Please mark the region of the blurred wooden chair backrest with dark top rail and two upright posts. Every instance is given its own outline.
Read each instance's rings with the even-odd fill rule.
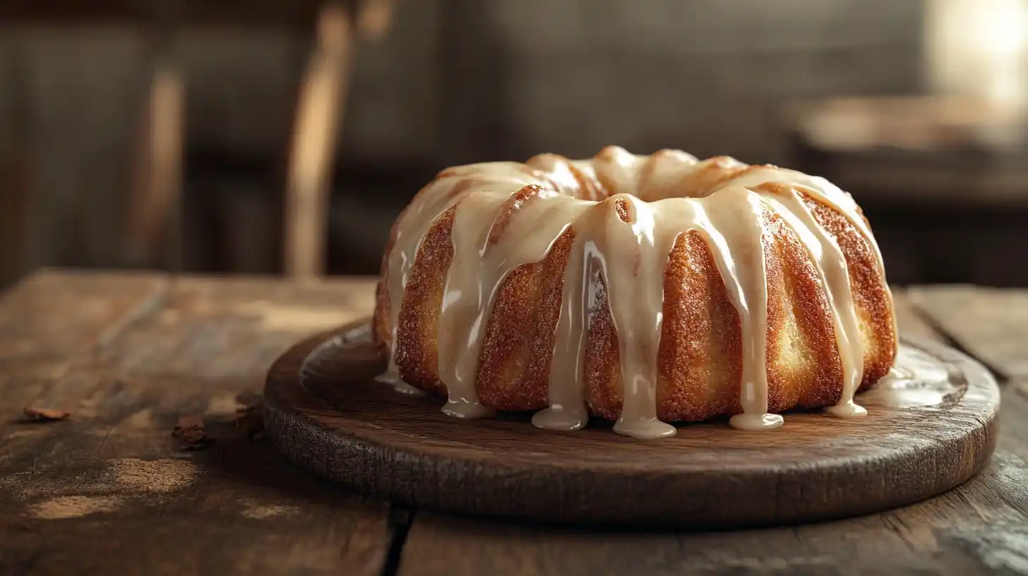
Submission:
[[[147,29],[151,70],[142,116],[136,122],[134,157],[128,158],[132,185],[122,260],[173,272],[181,266],[178,216],[188,106],[185,75],[172,41],[174,32],[192,26],[296,28],[315,23],[316,41],[298,91],[289,143],[283,262],[290,278],[324,275],[329,186],[356,39],[377,39],[389,31],[394,0],[283,0],[245,10],[237,4],[193,0],[98,0],[87,7],[74,2],[43,4],[3,2],[0,19],[7,24],[125,21]]]

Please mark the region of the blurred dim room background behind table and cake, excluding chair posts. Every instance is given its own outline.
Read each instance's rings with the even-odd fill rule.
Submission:
[[[282,273],[320,4],[215,4],[0,3],[0,284],[41,265]],[[375,273],[445,166],[618,144],[834,179],[893,282],[1028,285],[1009,258],[1028,248],[1024,29],[1020,0],[400,0],[353,46],[327,272]],[[182,76],[183,176],[171,247],[141,260],[126,207],[161,62]]]

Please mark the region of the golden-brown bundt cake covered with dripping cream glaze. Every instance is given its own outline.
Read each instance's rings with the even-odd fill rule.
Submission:
[[[596,417],[636,438],[722,416],[757,430],[794,408],[866,413],[853,396],[897,348],[848,193],[615,146],[441,172],[393,226],[373,336],[379,380],[446,396],[448,415],[537,410],[557,430]]]

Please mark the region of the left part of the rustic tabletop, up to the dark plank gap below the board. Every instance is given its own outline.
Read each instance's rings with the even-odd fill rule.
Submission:
[[[377,575],[389,505],[250,441],[236,396],[369,284],[44,273],[0,300],[0,574]],[[25,423],[26,405],[67,409]],[[195,415],[213,443],[183,451]]]

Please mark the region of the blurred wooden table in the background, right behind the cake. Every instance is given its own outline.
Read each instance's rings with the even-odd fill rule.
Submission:
[[[1023,110],[961,98],[849,98],[785,108],[796,168],[850,191],[889,280],[1028,286]]]

